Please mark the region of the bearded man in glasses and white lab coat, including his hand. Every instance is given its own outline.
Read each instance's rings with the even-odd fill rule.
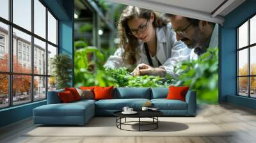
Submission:
[[[165,16],[171,20],[172,30],[176,33],[177,41],[183,41],[189,49],[192,49],[189,59],[196,60],[206,52],[207,48],[218,47],[218,24],[179,15],[166,14]],[[175,77],[173,65],[182,60],[175,61],[170,58],[168,61],[165,66],[159,68],[164,68],[166,73]],[[147,64],[139,64],[134,71],[136,71],[136,75],[162,75],[157,73],[156,68]]]

